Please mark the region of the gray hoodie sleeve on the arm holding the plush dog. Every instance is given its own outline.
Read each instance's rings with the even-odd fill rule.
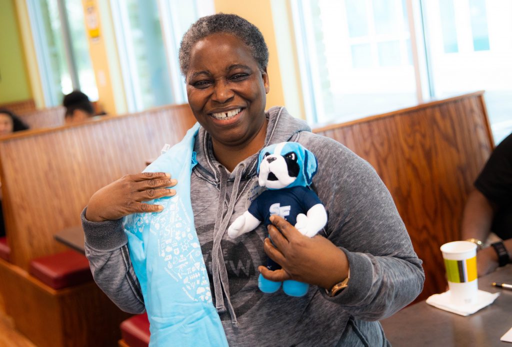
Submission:
[[[327,237],[347,254],[350,268],[344,291],[332,298],[320,291],[356,318],[388,317],[421,292],[422,262],[370,164],[334,140],[311,137],[304,145],[318,160],[313,183],[328,211]]]

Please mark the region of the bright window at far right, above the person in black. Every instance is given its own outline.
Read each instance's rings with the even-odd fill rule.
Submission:
[[[446,11],[449,3],[453,9]],[[512,132],[512,2],[436,0],[423,8],[433,97],[485,90],[494,139],[501,142]]]

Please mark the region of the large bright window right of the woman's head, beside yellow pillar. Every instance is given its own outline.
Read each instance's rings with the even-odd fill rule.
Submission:
[[[313,123],[348,121],[416,103],[406,8],[401,0],[298,2],[313,88]],[[306,15],[307,13],[307,15]],[[308,83],[307,83],[308,84]]]

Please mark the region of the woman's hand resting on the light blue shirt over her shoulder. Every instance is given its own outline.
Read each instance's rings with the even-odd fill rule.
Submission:
[[[142,202],[174,196],[176,190],[167,188],[176,183],[165,172],[126,175],[93,194],[87,205],[86,219],[91,222],[114,221],[132,213],[160,212],[163,206]]]

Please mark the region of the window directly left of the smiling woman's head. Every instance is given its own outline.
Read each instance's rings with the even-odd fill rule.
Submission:
[[[212,1],[111,0],[130,112],[186,102],[179,70],[181,37]]]

